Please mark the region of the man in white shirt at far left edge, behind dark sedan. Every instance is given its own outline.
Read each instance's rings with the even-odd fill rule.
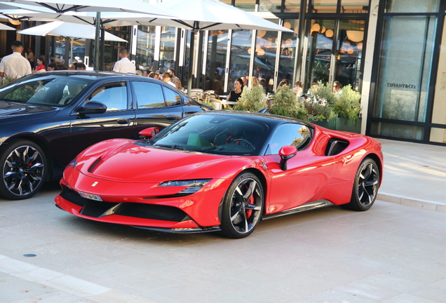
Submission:
[[[0,77],[10,76],[21,78],[31,74],[31,65],[29,61],[22,56],[23,44],[20,41],[14,41],[11,46],[13,53],[5,56],[0,62]]]

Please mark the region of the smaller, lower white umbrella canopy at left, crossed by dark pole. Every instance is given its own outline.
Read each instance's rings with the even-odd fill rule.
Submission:
[[[36,27],[30,27],[29,29],[23,29],[19,31],[19,34],[29,34],[34,36],[68,36],[83,39],[95,39],[95,27],[92,25],[81,25],[76,23],[68,23],[62,21],[55,21],[46,23],[44,25],[38,25]],[[119,36],[114,36],[109,32],[105,32],[105,41],[119,41],[127,42]]]

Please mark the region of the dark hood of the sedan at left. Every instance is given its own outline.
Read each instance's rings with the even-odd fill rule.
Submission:
[[[0,101],[0,123],[48,118],[53,116],[56,112],[58,112],[57,107]]]

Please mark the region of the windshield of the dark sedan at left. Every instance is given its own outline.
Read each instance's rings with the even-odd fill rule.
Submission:
[[[73,76],[44,76],[1,88],[0,100],[64,107],[91,82]]]

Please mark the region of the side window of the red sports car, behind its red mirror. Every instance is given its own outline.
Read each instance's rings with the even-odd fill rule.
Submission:
[[[266,154],[278,154],[285,145],[295,146],[298,150],[302,150],[310,141],[311,131],[308,127],[297,123],[285,123],[278,126],[274,132]]]

